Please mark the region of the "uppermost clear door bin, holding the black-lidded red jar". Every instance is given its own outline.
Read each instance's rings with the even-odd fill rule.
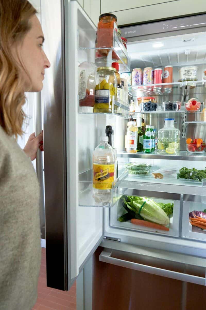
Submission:
[[[96,33],[99,33],[99,37],[105,38],[113,35],[113,44],[111,47],[107,46],[95,46],[95,41],[97,38]],[[111,32],[113,31],[113,33]],[[127,49],[124,44],[119,41],[115,30],[111,29],[78,29],[78,49],[79,50],[101,50],[105,61],[107,62],[107,67],[111,67],[112,62],[119,62],[121,64],[120,71],[130,71],[130,58],[128,56]],[[105,51],[105,53],[103,52]],[[101,53],[100,53],[101,57]],[[103,58],[101,57],[101,58]],[[97,61],[95,61],[97,62]]]

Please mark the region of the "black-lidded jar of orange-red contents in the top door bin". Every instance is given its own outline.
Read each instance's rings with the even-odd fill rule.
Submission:
[[[118,31],[117,18],[114,14],[106,13],[99,16],[99,23],[97,26],[97,47],[113,47],[114,30]],[[109,50],[99,49],[99,54],[107,56]]]

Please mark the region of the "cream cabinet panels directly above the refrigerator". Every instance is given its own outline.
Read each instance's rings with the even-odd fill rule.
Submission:
[[[94,1],[99,2],[99,1]],[[145,21],[168,19],[183,15],[193,15],[206,11],[203,0],[104,0],[101,1],[101,14],[111,12],[117,16],[117,24],[125,25]]]

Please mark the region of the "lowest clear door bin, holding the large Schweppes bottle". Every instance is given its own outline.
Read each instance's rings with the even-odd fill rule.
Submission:
[[[112,183],[112,188],[98,193],[93,185],[93,170],[89,169],[79,174],[78,204],[79,206],[111,208],[119,201],[128,188],[127,170],[119,170],[119,177]]]

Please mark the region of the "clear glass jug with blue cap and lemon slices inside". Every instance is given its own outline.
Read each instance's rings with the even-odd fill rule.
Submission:
[[[158,153],[179,152],[180,131],[174,127],[174,118],[165,118],[165,126],[158,131]]]

